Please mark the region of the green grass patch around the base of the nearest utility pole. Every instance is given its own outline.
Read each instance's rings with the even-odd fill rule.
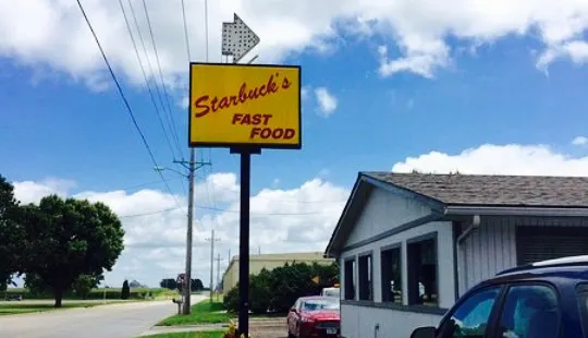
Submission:
[[[161,321],[158,325],[174,326],[189,324],[219,324],[229,323],[229,319],[234,317],[234,315],[223,312],[222,303],[210,303],[209,300],[204,300],[199,303],[192,305],[192,313],[189,315],[173,315]]]

